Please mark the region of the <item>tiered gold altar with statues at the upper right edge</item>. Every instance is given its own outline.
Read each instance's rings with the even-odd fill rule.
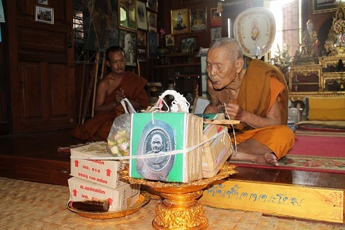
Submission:
[[[310,59],[300,50],[294,57],[293,65],[289,69],[289,99],[302,101],[305,97],[343,97],[345,95],[345,8],[340,1],[332,20],[332,26],[325,40],[327,56],[320,56],[316,50],[312,52],[317,59]],[[308,21],[309,22],[309,21]],[[314,27],[312,27],[314,28]],[[305,34],[308,34],[305,31]],[[307,42],[300,46],[315,49],[318,43],[317,33],[306,36]],[[318,41],[317,39],[314,40]],[[308,49],[308,50],[309,50]],[[312,61],[311,61],[312,60]]]

